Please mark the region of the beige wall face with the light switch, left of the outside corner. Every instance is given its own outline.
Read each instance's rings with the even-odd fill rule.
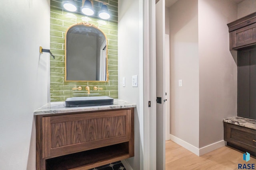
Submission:
[[[199,58],[198,0],[179,0],[170,7],[170,133],[198,148]],[[178,80],[183,86],[178,86]]]

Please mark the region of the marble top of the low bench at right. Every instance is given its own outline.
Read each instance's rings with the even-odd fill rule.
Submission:
[[[236,116],[236,117],[230,117],[230,118],[223,119],[223,121],[226,123],[231,123],[234,125],[248,127],[250,129],[256,130],[256,120],[254,120],[254,119],[247,119],[244,117]]]

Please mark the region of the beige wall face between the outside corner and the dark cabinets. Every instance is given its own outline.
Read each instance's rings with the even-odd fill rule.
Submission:
[[[226,25],[236,18],[230,0],[198,0],[200,148],[223,141],[222,119],[237,114],[237,65]]]

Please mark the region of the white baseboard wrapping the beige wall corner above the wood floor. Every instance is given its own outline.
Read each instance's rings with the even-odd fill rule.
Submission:
[[[174,141],[175,143],[177,143],[178,145],[188,149],[190,152],[193,152],[194,154],[196,154],[198,156],[201,156],[203,154],[211,152],[212,150],[215,150],[215,149],[218,149],[218,148],[221,148],[221,147],[225,146],[225,141],[222,140],[222,141],[212,143],[210,145],[207,145],[207,146],[202,147],[202,148],[199,149],[199,148],[195,147],[194,145],[191,145],[190,143],[187,143],[186,141],[183,141],[182,139],[180,139],[180,138],[178,138],[174,135],[171,135],[171,134],[170,134],[170,139],[172,141]]]

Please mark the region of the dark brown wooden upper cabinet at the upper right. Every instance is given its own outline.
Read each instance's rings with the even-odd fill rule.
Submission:
[[[230,22],[228,25],[230,50],[256,46],[256,12]]]

